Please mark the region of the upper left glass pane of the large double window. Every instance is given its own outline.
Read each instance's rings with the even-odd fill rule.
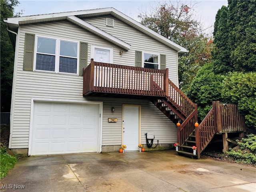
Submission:
[[[56,40],[38,37],[37,52],[46,54],[55,54]]]

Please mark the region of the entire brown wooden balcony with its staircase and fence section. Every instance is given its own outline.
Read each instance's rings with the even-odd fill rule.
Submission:
[[[168,68],[156,70],[94,62],[83,73],[83,96],[149,99],[177,128],[178,154],[200,158],[216,133],[245,131],[237,106],[213,102],[213,108],[195,128],[197,105],[168,78]],[[223,135],[223,138],[226,136]],[[196,156],[192,146],[197,147]],[[226,144],[226,146],[228,146]]]

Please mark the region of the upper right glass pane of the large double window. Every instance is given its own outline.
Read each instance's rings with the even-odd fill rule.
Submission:
[[[77,43],[60,41],[60,55],[77,57]]]

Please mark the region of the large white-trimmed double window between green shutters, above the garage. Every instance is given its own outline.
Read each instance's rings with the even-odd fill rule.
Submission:
[[[37,37],[34,70],[78,74],[78,42]]]

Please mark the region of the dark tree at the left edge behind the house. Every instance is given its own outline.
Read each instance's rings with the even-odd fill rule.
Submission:
[[[1,112],[10,112],[12,95],[12,77],[14,65],[14,48],[10,42],[4,18],[14,16],[14,7],[18,5],[18,0],[1,0],[1,50],[0,50],[0,70],[1,70]],[[20,14],[20,13],[19,13]]]

